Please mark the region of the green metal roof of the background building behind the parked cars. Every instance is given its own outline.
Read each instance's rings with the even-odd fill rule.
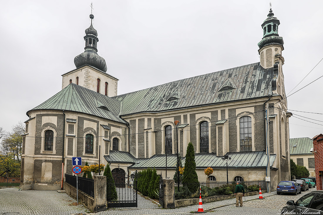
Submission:
[[[290,138],[289,139],[290,155],[312,154],[311,152],[309,152],[311,148],[313,148],[313,140],[311,138]]]

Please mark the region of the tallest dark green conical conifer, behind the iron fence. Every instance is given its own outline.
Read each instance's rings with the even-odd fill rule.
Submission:
[[[197,173],[195,171],[196,163],[195,163],[195,155],[194,155],[194,147],[190,142],[187,146],[186,156],[185,156],[185,168],[183,173],[183,184],[196,184],[196,186],[190,185],[187,186],[191,192],[196,192],[199,187],[199,179],[197,177]]]

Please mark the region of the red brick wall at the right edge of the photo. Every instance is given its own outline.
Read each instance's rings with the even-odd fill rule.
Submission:
[[[323,135],[320,134],[313,138],[315,178],[317,190],[323,190],[322,173],[323,173]]]

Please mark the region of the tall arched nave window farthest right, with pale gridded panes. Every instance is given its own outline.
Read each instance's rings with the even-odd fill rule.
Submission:
[[[240,151],[252,151],[251,117],[240,118]]]

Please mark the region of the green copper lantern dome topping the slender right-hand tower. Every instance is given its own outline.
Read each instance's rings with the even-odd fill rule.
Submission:
[[[266,18],[264,23],[261,25],[264,34],[262,40],[258,43],[258,47],[262,48],[271,44],[283,45],[283,37],[278,35],[278,26],[280,24],[279,20],[274,17],[274,13],[271,9],[267,16],[268,18]]]

